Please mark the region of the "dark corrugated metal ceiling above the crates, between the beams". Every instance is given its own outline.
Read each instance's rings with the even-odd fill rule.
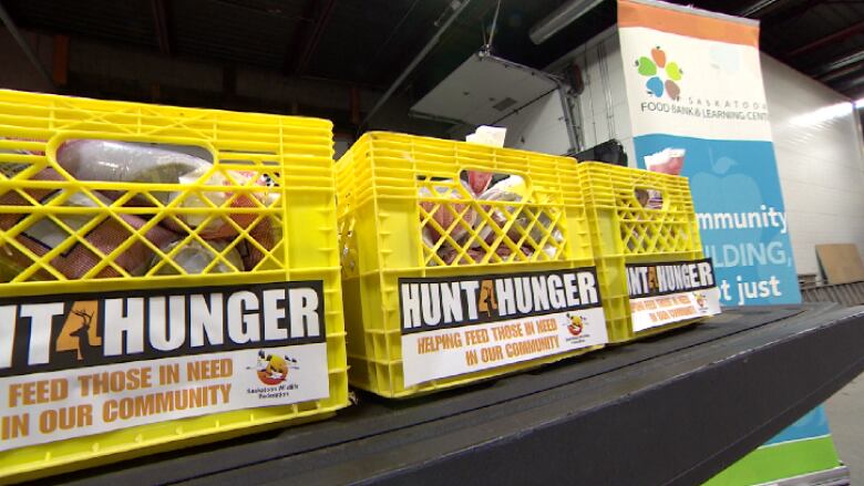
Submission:
[[[542,68],[615,22],[614,1],[607,0],[548,42],[534,45],[528,29],[563,1],[504,1],[495,53]],[[677,2],[733,14],[758,3]],[[411,77],[411,85],[430,89],[476,52],[483,43],[482,25],[488,25],[495,3],[473,0]],[[3,4],[22,28],[65,33],[73,41],[90,38],[155,51],[160,41],[154,12],[164,4],[171,55],[385,86],[432,37],[451,0],[4,0]],[[853,56],[856,62],[851,64],[832,64],[864,51],[864,2],[780,0],[768,2],[753,17],[762,22],[762,46],[768,53],[850,96],[864,93],[864,61]],[[820,43],[825,39],[830,42]]]

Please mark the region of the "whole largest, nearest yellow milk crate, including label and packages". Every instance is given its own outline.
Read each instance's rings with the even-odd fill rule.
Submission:
[[[331,132],[0,91],[0,480],[348,404]]]

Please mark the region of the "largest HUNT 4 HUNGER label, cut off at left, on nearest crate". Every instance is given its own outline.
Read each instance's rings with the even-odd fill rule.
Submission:
[[[0,301],[0,451],[328,395],[321,281]]]

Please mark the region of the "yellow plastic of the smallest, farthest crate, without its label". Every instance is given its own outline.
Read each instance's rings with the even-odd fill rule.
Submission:
[[[579,164],[592,244],[609,330],[609,342],[625,342],[699,322],[686,319],[634,332],[628,265],[701,260],[696,213],[686,177],[609,164]],[[641,192],[644,201],[639,200]],[[662,205],[645,204],[651,192]]]

